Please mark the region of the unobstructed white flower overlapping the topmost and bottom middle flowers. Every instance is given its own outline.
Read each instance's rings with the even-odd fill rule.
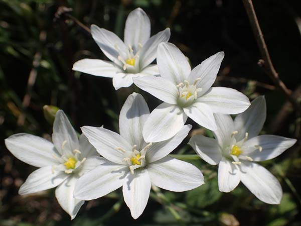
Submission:
[[[135,85],[164,101],[150,114],[143,129],[147,142],[171,138],[187,117],[209,130],[216,130],[213,113],[238,114],[250,105],[249,99],[235,89],[212,87],[223,52],[204,60],[191,70],[184,54],[171,43],[158,47],[157,64],[161,77],[133,78]]]

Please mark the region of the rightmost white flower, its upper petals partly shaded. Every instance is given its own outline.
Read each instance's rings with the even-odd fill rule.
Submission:
[[[277,157],[295,144],[295,139],[274,135],[257,136],[266,117],[264,96],[234,122],[230,116],[216,114],[215,139],[196,135],[189,144],[211,165],[219,164],[218,186],[223,192],[232,191],[241,181],[258,199],[269,204],[280,203],[282,189],[278,180],[257,161]]]

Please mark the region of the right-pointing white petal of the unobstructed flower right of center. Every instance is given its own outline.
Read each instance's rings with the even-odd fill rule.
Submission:
[[[209,105],[214,113],[227,115],[238,114],[250,106],[246,95],[226,87],[212,87],[197,101]]]

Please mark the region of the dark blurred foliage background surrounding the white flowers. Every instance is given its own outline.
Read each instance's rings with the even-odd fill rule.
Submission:
[[[289,89],[300,89],[301,2],[253,2],[280,78]],[[44,105],[63,109],[77,131],[84,125],[104,125],[117,132],[120,107],[128,94],[139,91],[134,86],[115,91],[111,79],[71,70],[79,59],[105,57],[74,20],[56,17],[60,6],[73,9],[68,15],[84,25],[96,24],[120,37],[128,13],[141,7],[150,17],[152,34],[170,27],[170,41],[193,66],[224,51],[215,85],[236,88],[251,99],[266,96],[263,134],[301,136],[300,116],[257,65],[260,54],[239,0],[0,0],[0,225],[301,225],[300,142],[262,163],[281,182],[280,205],[259,201],[242,184],[231,193],[220,193],[217,167],[194,157],[187,161],[202,170],[206,184],[181,193],[155,189],[137,220],[131,218],[120,190],[86,202],[73,221],[60,208],[53,190],[19,196],[19,187],[34,167],[14,158],[5,148],[5,138],[25,132],[50,139],[52,128],[43,116]],[[150,109],[160,103],[139,92]],[[212,136],[188,123],[196,129],[193,133]],[[174,154],[194,154],[185,145],[188,139]]]

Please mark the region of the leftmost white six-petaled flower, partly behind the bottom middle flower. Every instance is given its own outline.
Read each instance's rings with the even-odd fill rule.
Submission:
[[[19,194],[31,194],[57,187],[56,198],[73,219],[83,200],[73,197],[75,182],[85,172],[104,162],[82,134],[78,139],[62,110],[56,114],[53,144],[31,134],[15,134],[5,140],[9,151],[19,160],[39,167],[20,187]]]

